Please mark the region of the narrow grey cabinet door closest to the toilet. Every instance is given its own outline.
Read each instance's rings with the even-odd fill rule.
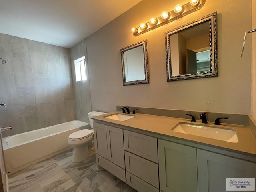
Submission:
[[[108,159],[106,125],[93,122],[95,152]]]

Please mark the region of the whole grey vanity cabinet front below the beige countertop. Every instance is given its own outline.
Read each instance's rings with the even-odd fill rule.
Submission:
[[[158,136],[94,122],[96,162],[138,192],[225,192],[226,178],[256,178],[254,160]]]

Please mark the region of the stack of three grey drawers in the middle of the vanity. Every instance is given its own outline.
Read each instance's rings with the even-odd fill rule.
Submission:
[[[127,184],[139,192],[159,192],[157,138],[124,130]]]

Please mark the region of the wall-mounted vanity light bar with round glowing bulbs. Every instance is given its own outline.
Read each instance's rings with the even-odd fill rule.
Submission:
[[[188,15],[198,9],[200,9],[205,4],[205,0],[190,0],[190,2],[175,6],[174,10],[167,12],[162,12],[162,15],[158,18],[151,18],[147,23],[141,23],[139,27],[132,28],[134,36],[138,36],[142,33],[148,32],[152,29],[158,28],[169,22],[172,22],[178,18]]]

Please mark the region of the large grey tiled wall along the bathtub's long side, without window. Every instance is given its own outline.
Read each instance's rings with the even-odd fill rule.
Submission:
[[[76,119],[68,48],[0,34],[0,58],[2,136]]]

